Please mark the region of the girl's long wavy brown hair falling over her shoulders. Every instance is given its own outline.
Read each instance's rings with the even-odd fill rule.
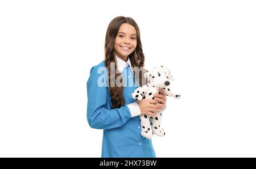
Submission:
[[[114,62],[115,63],[115,55],[114,55],[114,44],[115,44],[115,39],[117,37],[117,33],[119,31],[120,26],[123,23],[128,23],[131,24],[132,26],[135,27],[136,31],[137,31],[137,47],[135,48],[135,50],[133,51],[133,53],[131,53],[128,57],[130,58],[131,61],[131,66],[132,67],[142,67],[143,70],[143,66],[144,66],[144,54],[143,54],[143,50],[142,50],[142,44],[141,44],[141,36],[140,36],[140,32],[139,32],[139,27],[137,25],[137,23],[129,17],[124,17],[124,16],[118,16],[116,18],[114,18],[108,26],[108,29],[106,31],[106,37],[105,37],[105,58],[104,58],[104,62],[105,62],[105,66],[108,69],[108,78],[109,78],[109,91],[110,91],[110,96],[111,96],[111,102],[112,102],[112,108],[119,108],[122,105],[125,105],[125,100],[123,99],[123,86],[118,87],[117,85],[114,85],[114,87],[112,87],[110,85],[110,82],[114,81],[115,79],[120,75],[120,74],[115,74],[113,77],[110,77],[110,62]],[[117,69],[117,64],[115,63],[115,70]],[[142,86],[143,84],[143,76],[142,76],[142,72],[139,72],[139,82],[135,82],[137,84],[139,84],[139,86]],[[114,78],[114,80],[111,78]]]

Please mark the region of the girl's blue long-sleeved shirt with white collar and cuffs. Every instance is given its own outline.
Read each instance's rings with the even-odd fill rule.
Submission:
[[[102,67],[105,71],[102,71]],[[131,96],[137,88],[133,71],[129,65],[123,69],[126,70],[121,74],[124,82],[132,82],[133,85],[123,87],[125,105],[114,109],[111,109],[109,87],[106,86],[108,73],[104,61],[90,70],[90,77],[86,83],[88,123],[91,128],[104,129],[101,157],[155,157],[151,140],[141,136],[140,112],[134,116],[129,109],[129,105],[136,103]],[[130,78],[133,80],[127,80]],[[104,82],[105,86],[102,86],[102,83],[98,85],[99,82]]]

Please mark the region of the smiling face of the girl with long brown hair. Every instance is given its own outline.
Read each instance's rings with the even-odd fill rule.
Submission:
[[[123,60],[127,60],[127,56],[133,53],[136,46],[137,36],[134,26],[127,23],[121,24],[115,38],[114,54]]]

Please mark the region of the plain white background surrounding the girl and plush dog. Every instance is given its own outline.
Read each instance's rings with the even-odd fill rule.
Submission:
[[[157,157],[256,157],[255,1],[0,1],[0,157],[101,157],[86,81],[109,22],[141,29],[146,67],[165,65]]]

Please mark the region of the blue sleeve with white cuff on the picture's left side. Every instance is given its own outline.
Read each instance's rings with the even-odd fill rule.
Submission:
[[[92,67],[90,77],[86,83],[88,96],[86,116],[90,127],[95,129],[118,128],[135,115],[135,113],[132,115],[129,107],[133,107],[131,109],[133,109],[134,112],[137,111],[133,103],[133,105],[125,105],[120,108],[106,108],[108,91],[106,75],[106,70],[104,73],[98,73],[98,69]],[[104,85],[102,85],[102,79],[105,79]]]

